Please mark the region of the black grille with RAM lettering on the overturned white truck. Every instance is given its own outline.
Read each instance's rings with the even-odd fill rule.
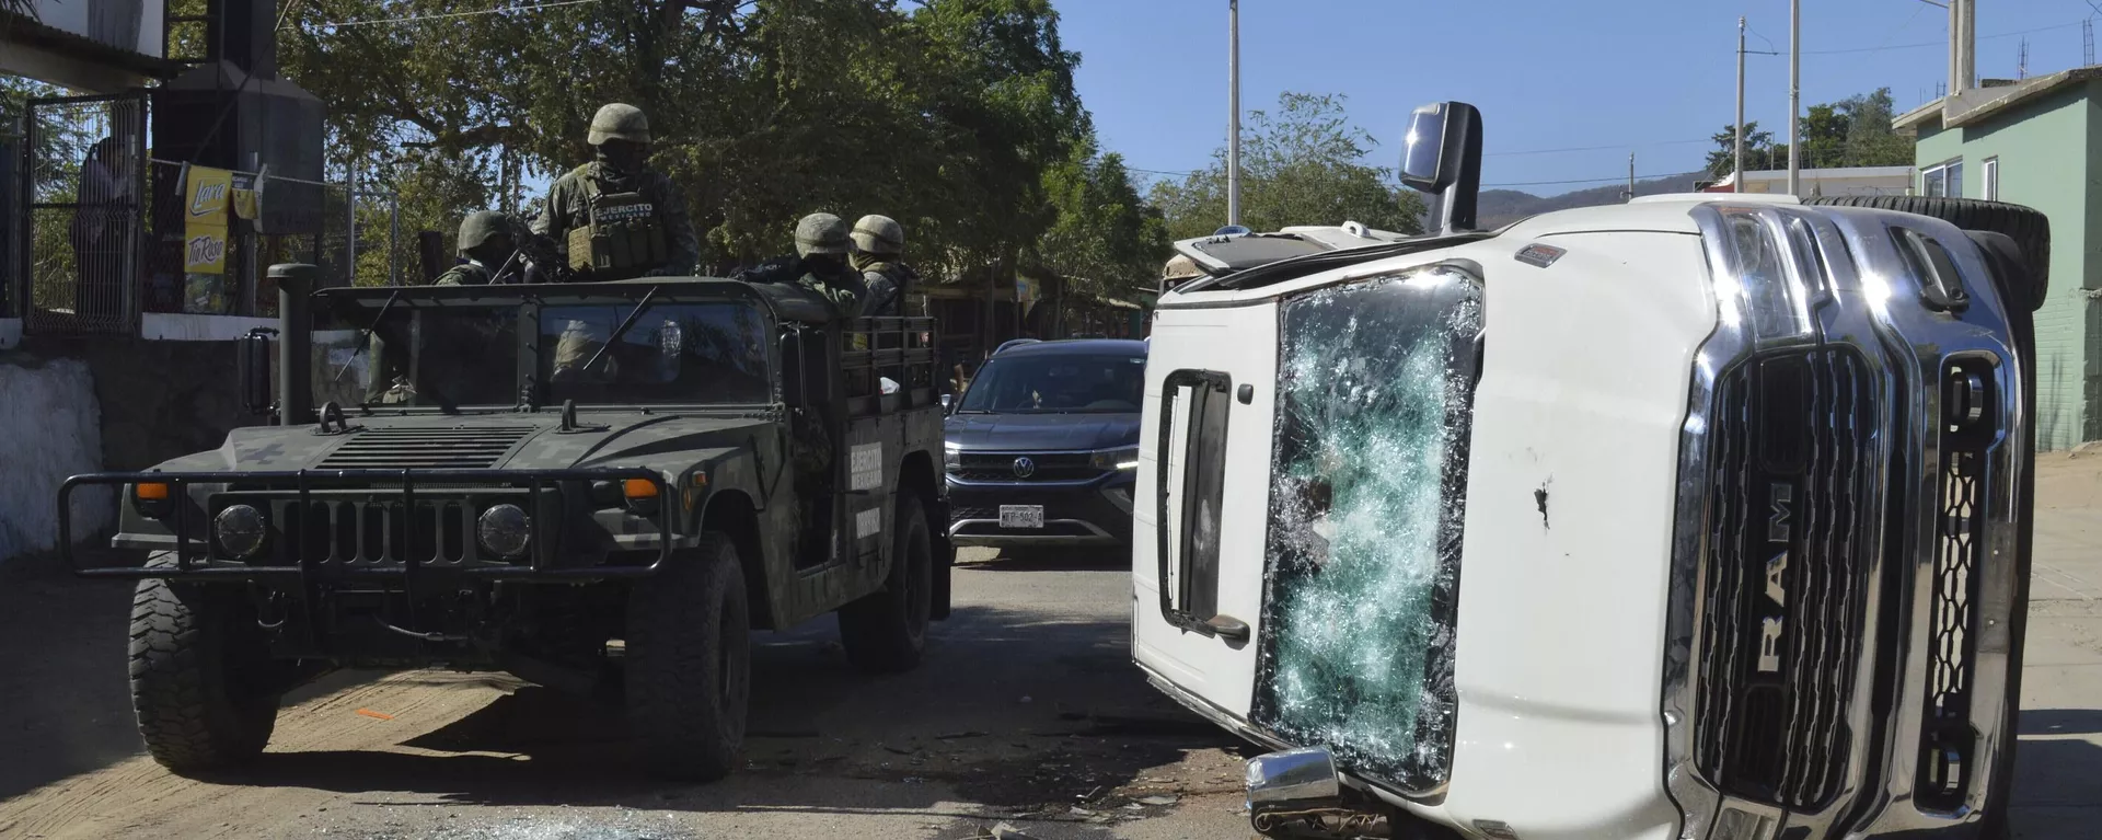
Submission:
[[[1694,737],[1728,794],[1814,811],[1841,783],[1875,526],[1871,381],[1856,352],[1816,349],[1715,385]]]

